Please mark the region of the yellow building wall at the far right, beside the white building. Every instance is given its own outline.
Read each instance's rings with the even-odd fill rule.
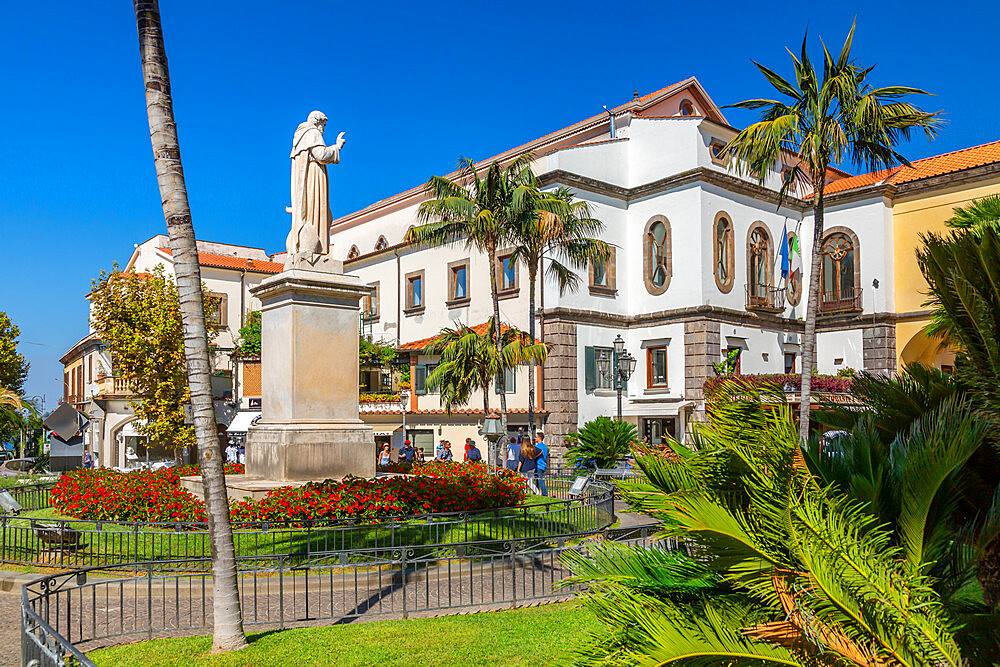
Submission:
[[[921,245],[920,235],[947,232],[944,223],[952,217],[954,208],[998,193],[1000,177],[935,189],[926,194],[898,197],[893,202],[892,247],[897,313],[905,317],[907,313],[928,310],[924,305],[927,301],[927,282],[920,273],[916,255]],[[923,334],[924,327],[929,323],[929,317],[920,316],[905,318],[896,324],[897,367],[912,361],[936,366],[953,363],[954,355],[950,351],[942,350],[938,342],[928,340]]]

